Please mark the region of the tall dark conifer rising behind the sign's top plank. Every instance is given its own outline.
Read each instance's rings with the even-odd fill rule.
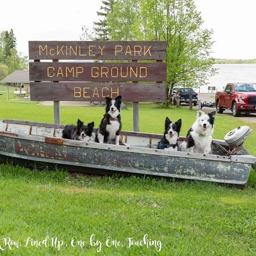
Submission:
[[[110,38],[110,27],[107,25],[106,16],[113,11],[114,0],[103,0],[102,4],[104,4],[104,6],[100,6],[101,11],[97,12],[97,14],[103,19],[93,22],[93,30],[95,33],[94,40],[96,41],[107,41]]]

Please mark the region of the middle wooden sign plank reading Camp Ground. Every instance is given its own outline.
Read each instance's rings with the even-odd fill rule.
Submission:
[[[166,63],[30,62],[30,81],[165,81]]]

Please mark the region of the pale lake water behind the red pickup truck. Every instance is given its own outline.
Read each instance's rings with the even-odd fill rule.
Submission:
[[[208,92],[208,86],[223,91],[228,83],[256,83],[256,64],[214,64],[218,74],[209,78],[209,84],[200,86],[201,93]],[[199,89],[196,89],[199,92]],[[211,91],[210,91],[211,92]]]

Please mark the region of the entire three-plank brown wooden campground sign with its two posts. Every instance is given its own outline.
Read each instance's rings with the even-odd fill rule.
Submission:
[[[31,100],[52,100],[55,124],[60,123],[59,101],[105,101],[122,95],[133,102],[133,130],[139,131],[139,102],[166,100],[166,41],[29,41],[29,59],[34,60],[29,63]]]

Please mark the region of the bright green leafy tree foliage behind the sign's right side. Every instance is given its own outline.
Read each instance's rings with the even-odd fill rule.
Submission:
[[[216,73],[210,57],[212,29],[193,0],[117,0],[107,15],[111,40],[167,42],[167,98],[174,85],[201,86]]]

